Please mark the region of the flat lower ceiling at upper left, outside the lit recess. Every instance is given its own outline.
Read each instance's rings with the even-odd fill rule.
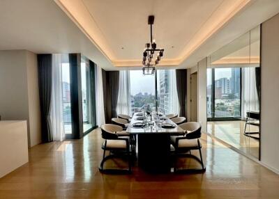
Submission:
[[[50,0],[0,1],[0,50],[82,53],[106,70],[112,63]]]

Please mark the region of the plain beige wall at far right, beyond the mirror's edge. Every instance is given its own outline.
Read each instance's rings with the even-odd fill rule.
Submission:
[[[279,173],[279,15],[262,24],[261,161]]]

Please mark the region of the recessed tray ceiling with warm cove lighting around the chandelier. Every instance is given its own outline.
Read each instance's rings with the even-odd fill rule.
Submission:
[[[162,65],[179,65],[250,0],[56,0],[114,66],[139,66],[153,37],[165,49]]]

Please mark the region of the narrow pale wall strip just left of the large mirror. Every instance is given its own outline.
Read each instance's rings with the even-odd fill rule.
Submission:
[[[206,133],[206,67],[207,58],[197,63],[197,120],[202,124],[202,132]]]

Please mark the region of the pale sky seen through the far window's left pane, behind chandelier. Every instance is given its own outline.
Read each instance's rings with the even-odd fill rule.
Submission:
[[[130,70],[130,93],[151,93],[155,95],[155,76],[143,75],[142,70]]]

